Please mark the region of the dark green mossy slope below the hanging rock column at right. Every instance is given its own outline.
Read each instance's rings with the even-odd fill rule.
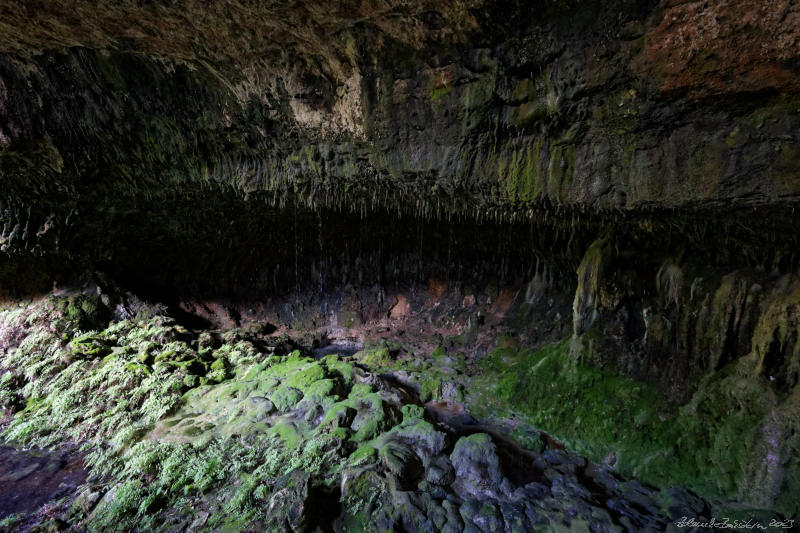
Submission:
[[[482,361],[467,398],[487,417],[515,414],[592,460],[704,496],[738,496],[764,471],[769,394],[741,361],[714,374],[692,401],[672,407],[648,385],[576,359],[569,342],[538,351],[498,348]],[[797,475],[793,472],[790,478]]]

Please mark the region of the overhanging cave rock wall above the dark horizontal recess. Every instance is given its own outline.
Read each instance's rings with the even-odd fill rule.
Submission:
[[[796,201],[791,2],[223,2],[196,27],[195,3],[135,6],[6,8],[14,193],[219,182],[469,218]]]

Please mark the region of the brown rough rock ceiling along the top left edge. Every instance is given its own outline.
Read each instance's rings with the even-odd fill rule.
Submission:
[[[479,0],[263,2],[3,2],[0,49],[20,57],[88,46],[199,60],[233,79],[276,67],[347,79],[356,68],[354,28],[369,26],[422,48],[463,40]],[[374,43],[377,48],[380,42]],[[268,74],[267,74],[268,75]]]

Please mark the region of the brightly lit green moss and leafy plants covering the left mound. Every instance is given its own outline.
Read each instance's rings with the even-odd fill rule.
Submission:
[[[9,369],[24,369],[27,380],[14,398],[25,409],[3,436],[86,446],[91,475],[111,489],[91,515],[75,509],[74,523],[92,531],[161,531],[165,514],[170,528],[192,529],[198,505],[211,513],[210,529],[256,527],[269,518],[266,504],[282,473],[300,469],[338,486],[346,468],[374,461],[370,443],[400,423],[396,399],[354,383],[363,370],[336,356],[264,354],[233,333],[218,350],[200,354],[194,343],[176,340],[192,333],[165,317],[116,322],[70,342],[75,327],[34,329],[3,354],[3,383],[16,383],[5,377]],[[81,354],[98,347],[110,353],[66,357],[76,346]],[[198,369],[226,379],[201,377]],[[428,426],[421,408],[403,411],[402,430],[436,445]]]

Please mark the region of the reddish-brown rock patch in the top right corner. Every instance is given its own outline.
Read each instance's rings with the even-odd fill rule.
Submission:
[[[708,97],[800,91],[800,4],[662,1],[661,22],[633,62],[662,92]]]

